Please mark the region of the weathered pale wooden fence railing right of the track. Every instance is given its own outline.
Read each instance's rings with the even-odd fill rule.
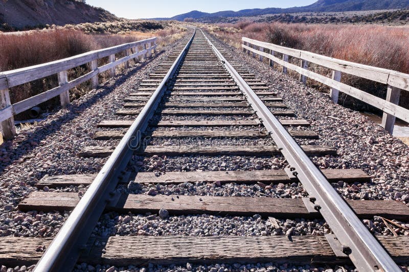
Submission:
[[[409,110],[398,106],[401,91],[409,91],[409,75],[406,73],[338,60],[245,37],[242,38],[242,41],[244,52],[249,55],[253,54],[254,58],[258,55],[260,61],[264,57],[268,58],[270,66],[274,63],[281,65],[283,73],[287,73],[287,69],[297,71],[300,74],[300,81],[304,84],[307,78],[310,78],[329,86],[331,88],[331,100],[334,103],[338,102],[339,92],[343,92],[382,110],[382,126],[391,134],[393,133],[396,117],[409,122]],[[281,54],[282,59],[276,57],[275,53]],[[289,56],[300,59],[300,66],[288,62]],[[332,78],[308,70],[310,62],[332,69]],[[386,100],[340,82],[342,73],[387,84]]]

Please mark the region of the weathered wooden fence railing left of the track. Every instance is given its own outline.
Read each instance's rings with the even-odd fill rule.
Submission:
[[[140,56],[148,58],[151,56],[152,50],[153,52],[156,50],[156,37],[91,51],[58,61],[0,72],[0,129],[3,137],[10,139],[15,136],[15,114],[31,109],[57,95],[60,96],[61,106],[64,107],[70,104],[70,89],[87,80],[90,80],[91,86],[96,88],[98,86],[98,75],[100,73],[109,71],[109,76],[113,77],[115,76],[116,66],[125,63],[125,67],[128,67],[131,59],[138,61]],[[125,57],[117,60],[116,54],[122,52]],[[98,67],[98,59],[104,57],[108,57],[109,62]],[[68,81],[67,70],[83,64],[88,64],[90,71],[79,78]],[[58,87],[44,91],[15,104],[10,103],[9,88],[52,75],[58,76]]]

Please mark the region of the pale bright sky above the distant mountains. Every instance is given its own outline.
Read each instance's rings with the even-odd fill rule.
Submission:
[[[192,10],[217,12],[255,8],[289,8],[307,6],[316,0],[86,0],[95,7],[104,8],[119,17],[128,19],[172,17]]]

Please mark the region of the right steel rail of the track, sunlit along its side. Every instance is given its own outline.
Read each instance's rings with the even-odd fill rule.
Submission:
[[[201,30],[200,30],[201,31]],[[326,180],[321,170],[304,153],[279,120],[260,100],[236,69],[222,56],[212,42],[201,31],[213,51],[224,63],[224,67],[243,91],[248,103],[262,119],[264,127],[280,147],[285,159],[295,170],[315,209],[319,210],[331,230],[359,271],[401,271],[387,251],[358,219],[348,204]]]

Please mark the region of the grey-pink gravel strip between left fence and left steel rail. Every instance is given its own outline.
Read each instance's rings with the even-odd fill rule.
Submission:
[[[17,204],[45,175],[96,174],[103,158],[78,158],[87,145],[115,146],[118,140],[95,141],[101,120],[116,119],[123,100],[131,89],[138,89],[179,43],[164,48],[156,58],[124,70],[96,90],[73,101],[67,108],[50,114],[46,120],[25,126],[14,140],[0,146],[0,236],[52,237],[67,213],[20,212]],[[48,189],[48,188],[44,188]],[[55,189],[49,189],[54,191]],[[64,191],[83,191],[68,188]]]

